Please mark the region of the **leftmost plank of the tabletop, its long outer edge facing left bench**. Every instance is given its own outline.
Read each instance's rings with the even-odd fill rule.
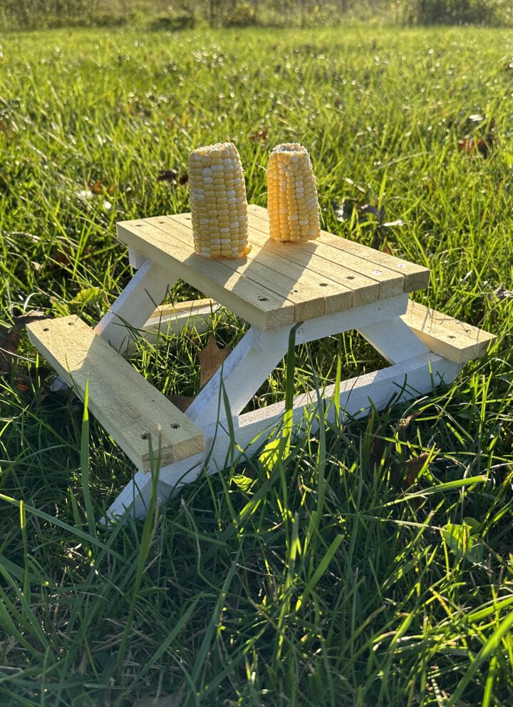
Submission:
[[[239,275],[221,260],[196,255],[189,246],[144,220],[118,223],[118,238],[259,329],[294,322],[294,302]]]

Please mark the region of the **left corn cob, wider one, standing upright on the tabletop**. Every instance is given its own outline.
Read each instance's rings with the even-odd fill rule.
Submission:
[[[195,251],[206,258],[247,253],[247,200],[237,148],[217,143],[193,150],[189,184]]]

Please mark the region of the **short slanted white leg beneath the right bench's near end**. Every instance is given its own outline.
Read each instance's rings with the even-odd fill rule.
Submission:
[[[358,326],[356,330],[389,363],[402,363],[427,354],[429,349],[400,317]]]

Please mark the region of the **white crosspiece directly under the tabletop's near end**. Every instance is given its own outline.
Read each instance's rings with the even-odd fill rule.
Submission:
[[[387,300],[372,302],[370,305],[353,307],[345,312],[336,312],[303,322],[296,330],[296,345],[340,334],[350,329],[356,329],[360,325],[388,322],[404,314],[407,307],[408,295],[399,295],[398,297],[389,297]],[[261,352],[269,351],[275,347],[286,348],[291,328],[292,325],[272,331],[261,331],[252,327],[250,330],[253,337],[252,347],[255,351]],[[414,355],[410,355],[409,358]]]

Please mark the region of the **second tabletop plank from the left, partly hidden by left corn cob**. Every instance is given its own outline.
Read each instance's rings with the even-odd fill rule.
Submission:
[[[190,214],[186,214],[186,216],[188,220],[155,216],[145,218],[145,223],[160,228],[163,233],[173,239],[173,242],[180,241],[194,250],[192,221]],[[316,291],[303,283],[296,283],[295,280],[288,277],[276,278],[276,273],[273,270],[269,270],[264,263],[259,263],[251,258],[224,258],[222,263],[233,272],[237,272],[238,275],[245,275],[249,280],[263,286],[275,295],[279,295],[289,302],[294,302],[294,321],[302,322],[305,319],[313,319],[323,315],[324,297],[321,288],[317,288]]]

